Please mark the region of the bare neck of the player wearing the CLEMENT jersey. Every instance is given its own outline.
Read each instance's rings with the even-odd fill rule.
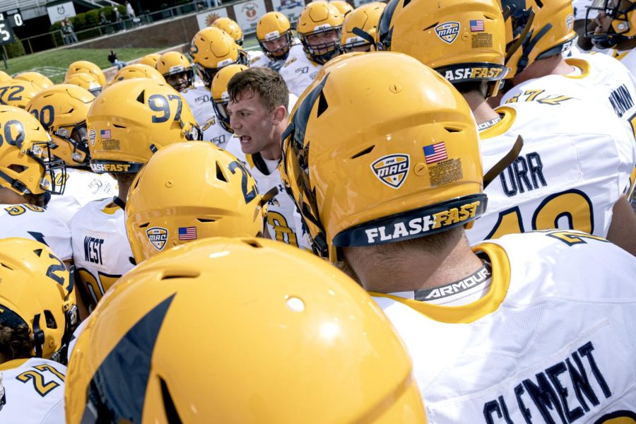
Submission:
[[[435,288],[470,276],[483,266],[466,236],[447,243],[435,253],[418,249],[382,251],[382,245],[348,247],[344,254],[365,290],[396,293]]]

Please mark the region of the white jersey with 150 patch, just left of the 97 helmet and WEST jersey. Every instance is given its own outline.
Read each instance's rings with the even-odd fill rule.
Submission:
[[[109,174],[95,174],[87,170],[66,168],[66,187],[61,196],[51,196],[47,209],[53,211],[66,225],[89,201],[117,194],[117,180]]]

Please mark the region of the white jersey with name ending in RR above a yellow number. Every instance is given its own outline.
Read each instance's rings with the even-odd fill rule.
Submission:
[[[502,121],[481,132],[484,172],[522,136],[519,157],[485,188],[488,207],[472,244],[505,234],[561,228],[606,237],[612,208],[630,187],[636,144],[612,112],[570,98],[497,108]],[[576,117],[572,120],[572,117]]]

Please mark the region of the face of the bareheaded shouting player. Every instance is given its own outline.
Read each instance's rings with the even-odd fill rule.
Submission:
[[[246,155],[269,150],[272,143],[276,143],[273,111],[266,110],[259,93],[247,91],[241,93],[236,102],[230,100],[228,114],[230,126]]]

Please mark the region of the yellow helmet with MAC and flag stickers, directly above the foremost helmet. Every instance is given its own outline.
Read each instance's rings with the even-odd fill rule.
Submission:
[[[262,203],[257,182],[230,153],[208,141],[167,146],[139,172],[126,201],[135,260],[196,239],[258,237]]]

